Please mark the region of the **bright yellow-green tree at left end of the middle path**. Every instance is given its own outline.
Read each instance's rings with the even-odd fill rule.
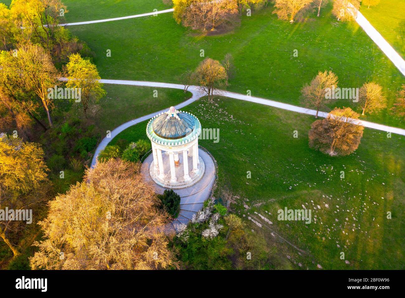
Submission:
[[[96,65],[89,60],[81,58],[80,54],[69,56],[69,63],[66,65],[68,71],[68,81],[66,87],[81,90],[81,103],[84,115],[87,118],[87,108],[91,102],[98,102],[105,94],[100,83]]]

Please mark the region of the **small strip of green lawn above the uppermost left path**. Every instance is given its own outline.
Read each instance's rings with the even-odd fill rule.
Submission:
[[[64,0],[68,7],[66,21],[92,21],[125,17],[140,13],[150,13],[153,9],[158,11],[171,8],[163,4],[162,0]]]

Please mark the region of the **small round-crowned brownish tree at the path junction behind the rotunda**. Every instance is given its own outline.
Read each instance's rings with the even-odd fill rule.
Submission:
[[[206,58],[195,71],[195,81],[201,91],[206,92],[208,99],[212,100],[217,88],[226,86],[228,75],[222,64],[211,58]]]

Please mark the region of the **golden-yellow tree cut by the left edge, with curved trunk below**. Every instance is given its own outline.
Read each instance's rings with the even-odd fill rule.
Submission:
[[[18,137],[0,134],[0,209],[34,209],[47,199],[47,166],[39,144],[24,142]],[[24,222],[11,219],[0,221],[0,238],[14,256],[19,250],[11,238],[21,231]]]

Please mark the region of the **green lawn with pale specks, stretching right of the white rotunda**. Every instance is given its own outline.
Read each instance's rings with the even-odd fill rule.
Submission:
[[[326,269],[403,269],[403,136],[387,138],[366,128],[356,152],[329,157],[308,147],[312,116],[226,98],[215,104],[200,99],[185,109],[198,116],[203,128],[220,129],[219,143],[200,140],[218,163],[216,197],[231,199],[235,212],[263,224],[260,229],[252,223],[255,229],[269,227],[305,252],[300,255],[279,243],[289,247],[282,251],[292,262],[304,269],[317,264]],[[146,139],[146,123],[123,131],[113,143]],[[277,221],[278,209],[302,205],[312,210],[312,223]],[[392,219],[386,218],[387,211]],[[340,259],[341,252],[349,264]]]

